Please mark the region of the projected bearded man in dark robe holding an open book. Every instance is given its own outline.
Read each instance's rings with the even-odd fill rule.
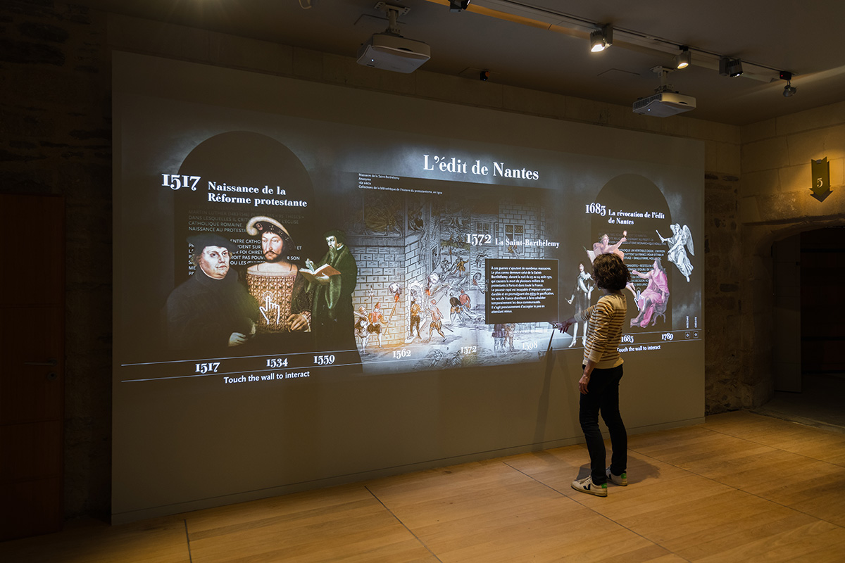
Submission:
[[[317,264],[306,260],[308,269],[303,270],[303,275],[309,276],[308,286],[313,291],[311,328],[314,344],[319,350],[350,350],[357,354],[352,292],[357,284],[358,266],[346,246],[346,233],[330,230],[324,238],[329,252]]]

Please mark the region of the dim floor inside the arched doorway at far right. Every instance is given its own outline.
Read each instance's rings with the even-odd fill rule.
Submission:
[[[776,391],[751,412],[845,434],[845,375],[804,374],[801,392]]]

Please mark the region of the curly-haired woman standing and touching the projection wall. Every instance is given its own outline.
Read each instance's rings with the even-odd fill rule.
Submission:
[[[602,290],[598,302],[567,319],[561,332],[575,322],[587,322],[584,343],[583,375],[578,382],[581,402],[578,418],[590,452],[590,475],[572,481],[572,488],[597,496],[608,495],[608,480],[628,485],[625,473],[628,463],[628,434],[619,414],[619,380],[622,379],[622,356],[619,340],[628,304],[622,290],[630,280],[628,268],[615,254],[601,254],[592,263],[592,278]],[[610,430],[613,455],[605,467],[606,452],[598,415]]]

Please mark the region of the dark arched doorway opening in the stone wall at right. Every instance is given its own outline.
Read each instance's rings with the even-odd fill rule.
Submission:
[[[845,227],[772,245],[775,396],[762,410],[845,431]]]

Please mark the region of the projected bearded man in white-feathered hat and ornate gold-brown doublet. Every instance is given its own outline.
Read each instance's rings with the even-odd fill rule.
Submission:
[[[258,236],[264,262],[247,268],[247,287],[259,304],[258,334],[311,330],[311,296],[299,268],[289,261],[294,252],[291,235],[270,217],[249,219],[247,233]]]

